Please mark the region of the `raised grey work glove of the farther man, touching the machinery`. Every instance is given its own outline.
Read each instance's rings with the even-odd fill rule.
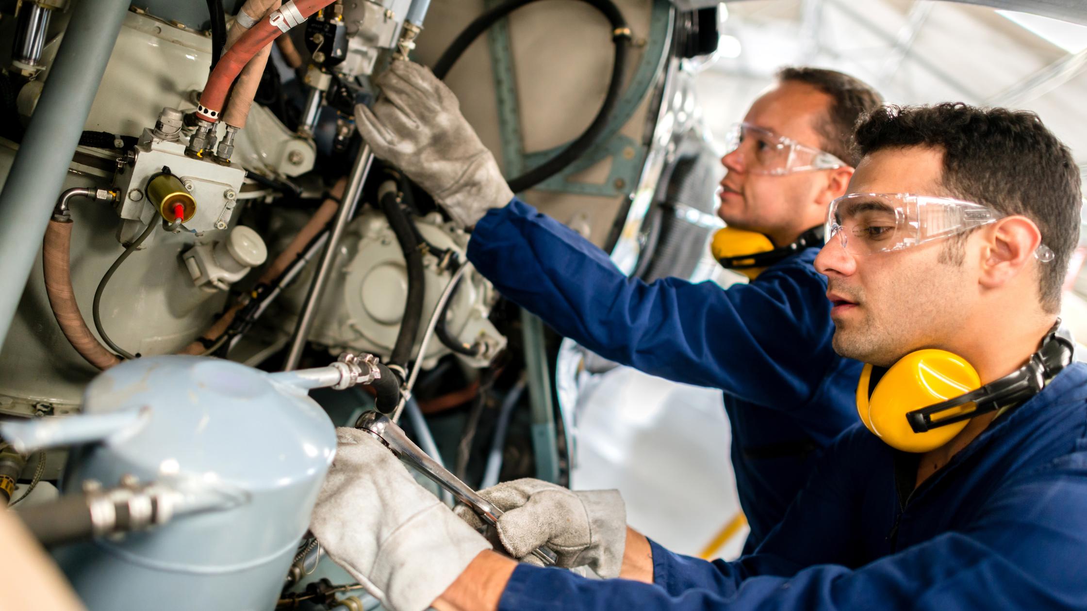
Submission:
[[[375,83],[384,97],[373,110],[354,109],[359,134],[375,155],[402,170],[462,227],[513,199],[457,96],[427,67],[393,60]]]

